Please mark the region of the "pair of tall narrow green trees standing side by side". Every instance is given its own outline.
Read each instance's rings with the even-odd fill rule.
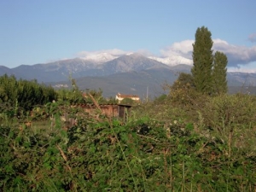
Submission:
[[[227,92],[227,64],[224,53],[216,51],[212,55],[212,33],[207,27],[197,28],[193,44],[194,66],[191,73],[195,89],[207,95],[219,95]]]

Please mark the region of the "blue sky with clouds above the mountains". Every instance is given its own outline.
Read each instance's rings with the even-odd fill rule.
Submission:
[[[192,65],[196,29],[206,26],[228,71],[256,73],[255,9],[255,0],[1,0],[0,66],[99,52],[177,55]]]

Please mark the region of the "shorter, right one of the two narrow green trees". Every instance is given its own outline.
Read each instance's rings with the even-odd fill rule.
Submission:
[[[213,61],[212,79],[214,92],[218,95],[226,93],[228,90],[227,85],[227,64],[228,58],[224,53],[216,51]]]

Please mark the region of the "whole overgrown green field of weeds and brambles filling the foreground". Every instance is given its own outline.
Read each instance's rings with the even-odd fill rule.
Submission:
[[[0,191],[256,190],[255,96],[161,96],[125,122],[63,102],[11,110]]]

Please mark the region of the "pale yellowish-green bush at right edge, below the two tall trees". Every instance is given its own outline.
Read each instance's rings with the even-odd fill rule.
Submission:
[[[204,124],[226,136],[230,131],[252,129],[256,123],[255,96],[222,95],[208,100],[201,111]]]

